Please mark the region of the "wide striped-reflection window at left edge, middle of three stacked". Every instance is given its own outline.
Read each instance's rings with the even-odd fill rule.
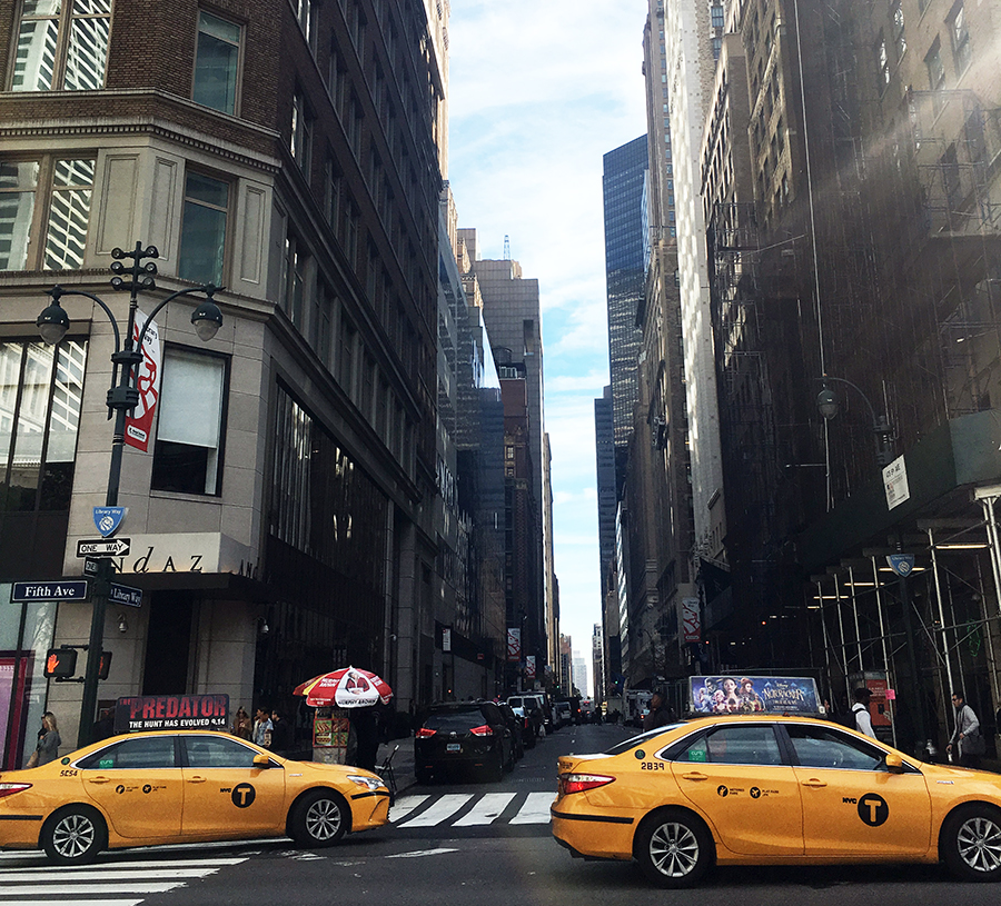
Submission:
[[[0,270],[81,268],[93,178],[88,158],[0,161]]]

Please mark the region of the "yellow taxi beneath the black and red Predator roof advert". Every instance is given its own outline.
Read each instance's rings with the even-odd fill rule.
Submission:
[[[79,865],[102,849],[287,835],[331,846],[389,820],[370,771],[291,761],[225,733],[117,736],[0,773],[0,849]]]

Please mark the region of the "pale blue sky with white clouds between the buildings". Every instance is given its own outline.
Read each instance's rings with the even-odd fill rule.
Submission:
[[[449,172],[480,258],[542,302],[561,631],[601,623],[594,400],[608,382],[602,156],[645,135],[646,0],[452,0]],[[588,684],[589,685],[589,684]]]

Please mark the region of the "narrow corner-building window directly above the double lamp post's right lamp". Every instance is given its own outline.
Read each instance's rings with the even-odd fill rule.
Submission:
[[[229,183],[189,171],[185,179],[177,276],[196,283],[222,285]]]

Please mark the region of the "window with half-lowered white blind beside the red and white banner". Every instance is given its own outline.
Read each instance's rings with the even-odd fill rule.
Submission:
[[[167,347],[153,448],[155,490],[218,495],[226,359]]]

